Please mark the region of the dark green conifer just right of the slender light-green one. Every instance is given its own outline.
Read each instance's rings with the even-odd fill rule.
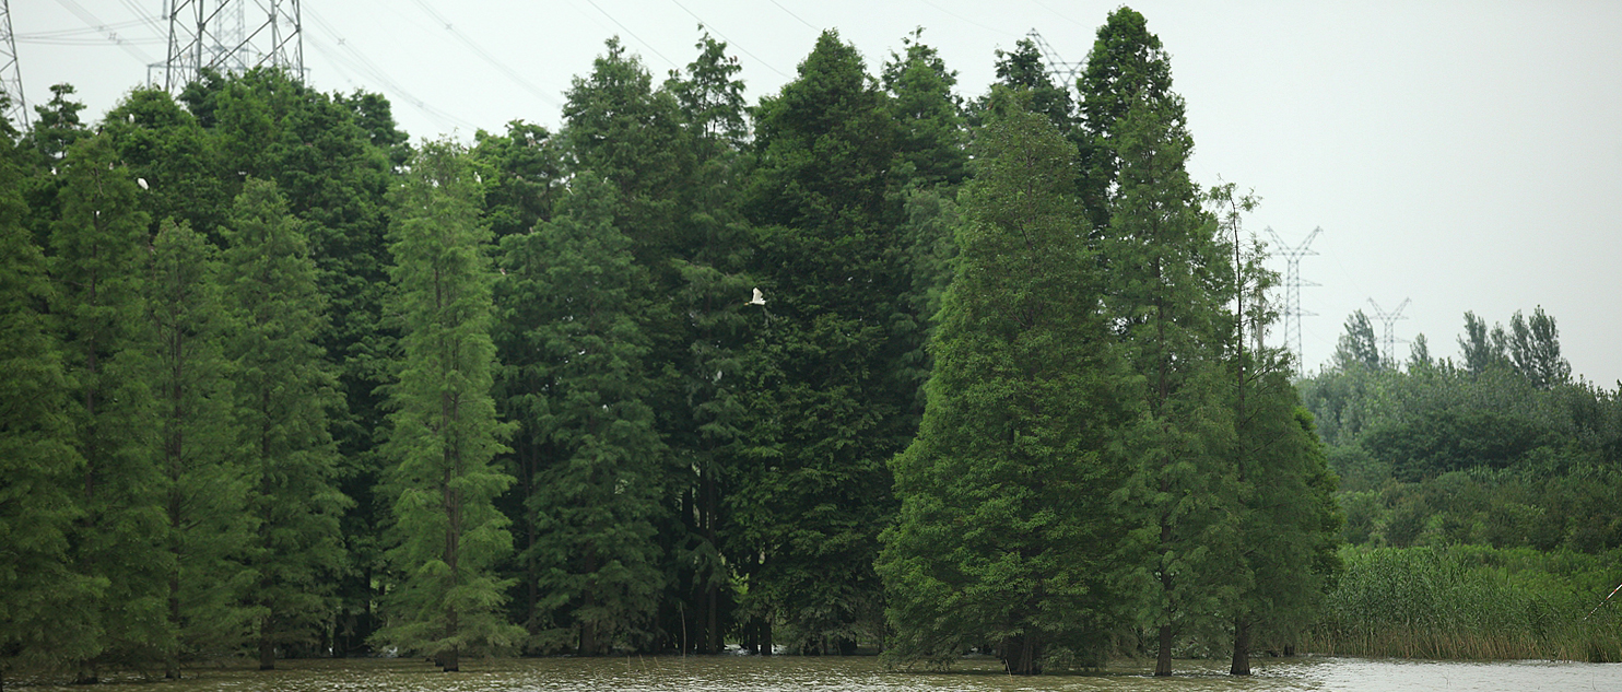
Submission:
[[[616,196],[582,172],[553,220],[503,238],[508,394],[537,452],[532,647],[597,656],[642,647],[663,587],[655,520],[663,444],[647,402],[646,272],[613,225]],[[521,360],[519,360],[521,358]]]

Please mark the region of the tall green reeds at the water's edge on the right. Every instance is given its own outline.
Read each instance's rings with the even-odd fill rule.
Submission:
[[[1619,554],[1453,548],[1343,551],[1307,650],[1400,658],[1622,661]],[[1619,596],[1622,598],[1622,596]]]

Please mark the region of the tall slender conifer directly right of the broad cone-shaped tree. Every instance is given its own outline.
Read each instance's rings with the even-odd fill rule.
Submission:
[[[1098,29],[1088,58],[1111,60],[1111,36],[1137,26],[1142,15],[1116,10]],[[1098,233],[1111,285],[1106,305],[1118,337],[1142,378],[1144,415],[1126,431],[1137,459],[1121,499],[1139,512],[1132,535],[1137,556],[1122,579],[1142,592],[1139,622],[1155,632],[1156,676],[1171,674],[1179,632],[1210,627],[1233,598],[1226,582],[1238,527],[1231,463],[1233,412],[1228,339],[1234,298],[1231,248],[1202,209],[1186,162],[1194,147],[1182,99],[1168,83],[1169,58],[1152,34],[1139,39],[1147,63],[1122,78],[1095,84],[1122,109],[1095,143],[1109,162],[1087,159],[1090,173],[1113,170],[1109,222]],[[1105,115],[1106,117],[1106,115]],[[1088,112],[1088,126],[1098,115]],[[1083,185],[1083,203],[1095,190]]]

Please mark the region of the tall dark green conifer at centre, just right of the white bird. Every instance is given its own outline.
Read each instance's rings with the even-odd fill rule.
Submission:
[[[806,653],[878,634],[873,561],[894,512],[886,460],[912,439],[916,381],[890,376],[910,337],[890,319],[907,287],[889,193],[899,123],[856,49],[817,37],[795,81],[754,109],[746,217],[766,293],[769,384],[749,408],[772,426],[728,499],[748,567],[746,608]]]

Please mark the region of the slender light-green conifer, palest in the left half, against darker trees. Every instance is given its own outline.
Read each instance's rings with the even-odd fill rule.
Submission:
[[[423,143],[391,191],[389,313],[401,319],[401,360],[388,387],[393,543],[397,583],[373,640],[457,671],[462,653],[511,647],[522,630],[503,617],[509,582],[493,569],[513,548],[495,498],[513,476],[491,465],[509,425],[490,395],[493,276],[478,224],[478,183],[467,152]]]

